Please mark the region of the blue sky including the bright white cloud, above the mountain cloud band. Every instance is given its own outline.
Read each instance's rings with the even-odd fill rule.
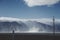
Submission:
[[[60,0],[0,0],[0,16],[60,18]]]

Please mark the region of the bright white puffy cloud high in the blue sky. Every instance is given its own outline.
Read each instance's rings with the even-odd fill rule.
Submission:
[[[29,7],[34,6],[50,6],[58,3],[60,0],[24,0]]]

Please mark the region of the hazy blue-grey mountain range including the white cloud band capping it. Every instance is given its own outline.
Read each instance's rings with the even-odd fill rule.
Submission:
[[[0,17],[0,33],[12,32],[35,32],[35,33],[49,33],[53,32],[52,19],[18,19],[11,17]],[[60,20],[55,21],[55,31],[60,32]]]

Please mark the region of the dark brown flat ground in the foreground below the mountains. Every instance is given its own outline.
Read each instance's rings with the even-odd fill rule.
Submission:
[[[0,40],[60,40],[60,34],[51,33],[0,33]]]

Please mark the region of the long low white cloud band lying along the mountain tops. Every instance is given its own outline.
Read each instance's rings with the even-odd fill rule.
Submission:
[[[52,18],[39,18],[39,19],[20,19],[20,18],[12,18],[12,17],[0,17],[0,22],[4,22],[4,21],[22,21],[22,22],[27,22],[27,21],[37,21],[37,22],[41,22],[41,23],[46,23],[46,24],[50,24],[53,20]],[[55,19],[55,22],[60,22],[60,19]]]

